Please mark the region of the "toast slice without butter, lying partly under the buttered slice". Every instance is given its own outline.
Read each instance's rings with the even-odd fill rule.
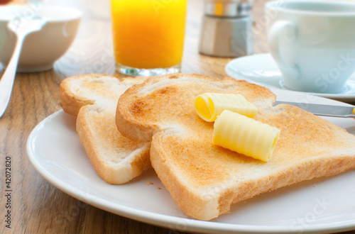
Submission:
[[[77,134],[97,174],[109,184],[124,184],[151,167],[150,143],[125,138],[115,124],[119,96],[145,78],[104,74],[68,77],[60,83],[60,105],[77,116]]]

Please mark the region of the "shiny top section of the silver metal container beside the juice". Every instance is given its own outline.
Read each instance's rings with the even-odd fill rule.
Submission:
[[[253,0],[205,0],[207,16],[241,17],[251,14]]]

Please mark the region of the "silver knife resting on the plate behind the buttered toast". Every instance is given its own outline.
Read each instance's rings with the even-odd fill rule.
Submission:
[[[275,106],[278,104],[288,104],[292,106],[297,106],[317,116],[355,118],[355,106],[333,106],[322,104],[305,104],[290,101],[275,101]]]

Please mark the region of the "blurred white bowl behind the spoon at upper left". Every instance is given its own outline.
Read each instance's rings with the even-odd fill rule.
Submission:
[[[58,6],[0,6],[0,62],[4,67],[16,43],[16,36],[7,28],[7,23],[16,16],[26,20],[34,15],[42,16],[47,23],[42,30],[31,33],[24,40],[18,72],[52,69],[54,62],[72,45],[82,18],[80,11]]]

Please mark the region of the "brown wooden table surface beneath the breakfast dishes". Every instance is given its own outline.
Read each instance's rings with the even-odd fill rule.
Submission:
[[[87,73],[115,74],[108,0],[42,2],[81,9],[84,17],[75,42],[53,69],[16,74],[9,107],[0,118],[0,232],[179,233],[84,204],[48,183],[29,162],[26,154],[28,135],[40,121],[61,109],[59,84],[62,79]],[[254,53],[268,52],[262,28],[264,3],[265,0],[254,1]],[[208,57],[198,52],[202,6],[202,0],[189,2],[182,72],[222,78],[226,76],[224,66],[231,59]],[[8,212],[5,196],[6,157],[11,157],[11,229],[6,228],[5,223]]]

